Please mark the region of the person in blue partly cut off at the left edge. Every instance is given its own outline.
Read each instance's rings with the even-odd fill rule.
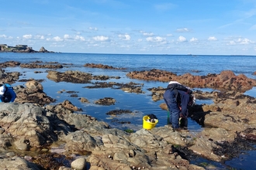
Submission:
[[[11,103],[16,99],[16,93],[9,83],[0,87],[0,102]]]

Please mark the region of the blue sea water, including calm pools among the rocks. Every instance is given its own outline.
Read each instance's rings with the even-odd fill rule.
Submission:
[[[98,121],[106,121],[110,127],[122,130],[138,131],[142,128],[142,117],[147,114],[155,114],[158,119],[156,127],[167,124],[167,112],[162,110],[159,105],[164,100],[153,101],[149,88],[167,87],[168,82],[146,81],[130,79],[126,73],[141,70],[167,70],[177,75],[191,73],[192,75],[206,76],[209,73],[219,74],[223,70],[231,70],[236,75],[244,74],[245,76],[256,79],[256,56],[214,56],[214,55],[139,55],[139,54],[102,54],[102,53],[0,53],[1,63],[6,61],[18,61],[20,63],[61,63],[64,68],[56,69],[59,72],[67,70],[78,70],[92,75],[108,75],[119,76],[120,79],[110,79],[106,82],[116,83],[141,83],[144,84],[142,90],[145,93],[127,93],[123,90],[111,88],[88,89],[92,83],[67,83],[54,82],[47,79],[47,70],[49,69],[27,69],[20,67],[5,68],[5,72],[20,72],[22,76],[19,80],[43,80],[43,91],[48,96],[56,99],[54,104],[70,100],[72,104],[81,108],[81,114],[88,114],[96,117]],[[125,70],[103,70],[98,68],[85,67],[85,63],[95,63],[109,65]],[[35,73],[35,71],[40,73]],[[97,80],[99,82],[99,80]],[[24,82],[17,81],[12,86],[23,85]],[[213,89],[202,88],[193,89],[211,92]],[[58,93],[64,91],[64,93]],[[71,97],[71,93],[65,91],[74,91],[78,97]],[[247,90],[244,94],[256,97],[256,87]],[[89,100],[88,104],[81,103],[79,97],[85,97]],[[116,99],[116,104],[110,106],[102,106],[94,104],[95,100],[104,97],[112,97]],[[196,104],[212,104],[212,100],[196,100]],[[120,114],[110,116],[106,113],[111,110],[131,110],[133,114]],[[129,121],[129,124],[119,124],[119,121]],[[189,131],[191,133],[199,133],[203,128],[195,121],[189,119]],[[242,151],[237,158],[229,160],[225,163],[211,162],[204,158],[194,160],[192,163],[200,164],[207,162],[216,169],[254,169],[256,167],[256,146],[255,151]]]

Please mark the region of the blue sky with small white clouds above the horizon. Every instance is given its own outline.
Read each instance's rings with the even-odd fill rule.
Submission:
[[[255,0],[0,0],[0,44],[62,53],[256,55]]]

